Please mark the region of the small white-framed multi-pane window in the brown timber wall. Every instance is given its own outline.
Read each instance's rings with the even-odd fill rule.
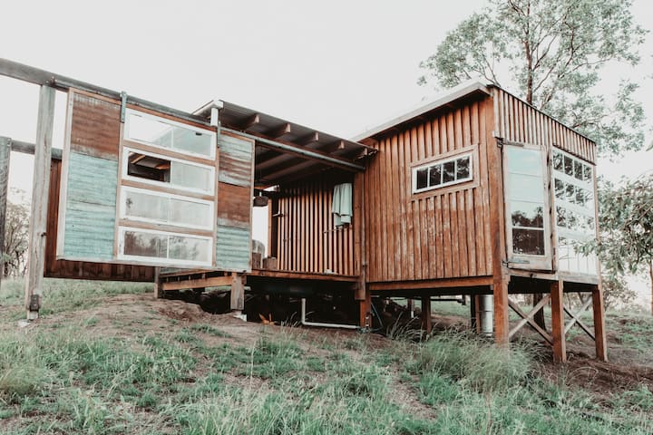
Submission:
[[[470,181],[472,174],[472,154],[438,160],[413,169],[413,193]]]

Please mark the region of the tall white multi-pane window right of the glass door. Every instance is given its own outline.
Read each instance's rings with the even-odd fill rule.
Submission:
[[[584,256],[578,249],[596,237],[593,167],[561,150],[553,150],[552,161],[558,267],[596,275],[596,256]]]

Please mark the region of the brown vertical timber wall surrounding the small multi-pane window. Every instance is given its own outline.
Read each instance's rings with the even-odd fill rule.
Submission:
[[[378,139],[365,172],[369,282],[492,275],[491,111],[489,98],[460,102]],[[412,168],[463,152],[473,156],[472,181],[413,193]]]

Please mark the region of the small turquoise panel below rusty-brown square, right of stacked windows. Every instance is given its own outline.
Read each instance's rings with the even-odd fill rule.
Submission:
[[[230,271],[250,271],[249,228],[228,227],[218,220],[216,267]]]

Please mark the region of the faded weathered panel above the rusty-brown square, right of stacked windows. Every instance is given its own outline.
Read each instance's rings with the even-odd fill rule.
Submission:
[[[252,142],[222,134],[219,137],[219,152],[219,181],[236,186],[250,186]]]

